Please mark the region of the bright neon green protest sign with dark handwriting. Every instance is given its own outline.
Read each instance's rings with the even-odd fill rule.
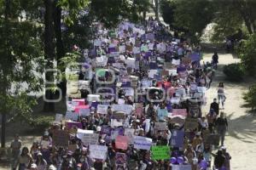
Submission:
[[[170,147],[166,145],[157,145],[151,147],[153,160],[168,160],[170,159]]]

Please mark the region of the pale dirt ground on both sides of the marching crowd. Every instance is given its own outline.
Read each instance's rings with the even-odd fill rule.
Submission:
[[[204,60],[210,61],[212,54],[204,54]],[[224,82],[226,102],[224,105],[224,113],[229,121],[229,131],[227,133],[224,145],[232,156],[232,170],[253,170],[256,167],[256,116],[248,113],[247,108],[243,105],[242,93],[247,90],[247,87],[252,84],[252,80],[245,80],[241,83],[225,81],[222,68],[224,65],[239,62],[231,54],[219,54],[219,66],[216,71],[216,77],[212,82],[212,87],[207,90],[207,105],[203,107],[204,113],[209,110],[209,105],[212,99],[217,97],[218,82]],[[20,123],[11,124],[7,129],[7,145],[10,144],[14,133],[20,133],[21,140],[26,146],[31,146],[32,141],[38,140],[38,135],[27,134],[20,130]],[[43,133],[43,132],[42,132]],[[0,167],[1,170],[9,168]]]

